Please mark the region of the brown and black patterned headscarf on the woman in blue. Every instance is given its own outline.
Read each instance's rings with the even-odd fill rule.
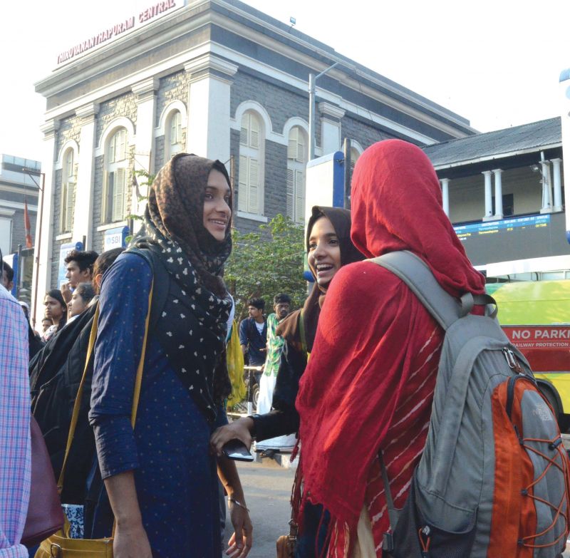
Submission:
[[[212,170],[222,172],[229,184],[219,161],[186,153],[172,157],[152,182],[144,226],[131,244],[155,252],[170,274],[167,300],[153,335],[210,421],[231,391],[224,348],[232,309],[222,279],[224,262],[232,252],[230,224],[221,242],[203,224]]]

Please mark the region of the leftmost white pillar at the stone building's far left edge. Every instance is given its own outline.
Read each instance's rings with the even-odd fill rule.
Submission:
[[[53,243],[53,190],[56,185],[56,144],[59,130],[58,120],[48,120],[40,130],[43,132],[43,153],[41,170],[43,192],[38,197],[38,218],[36,219],[36,249],[32,276],[31,315],[36,324],[43,318],[43,295],[51,286],[51,248]],[[43,204],[43,207],[42,207]],[[41,215],[40,212],[43,212]],[[41,225],[40,225],[41,224]],[[39,249],[38,249],[39,244]]]

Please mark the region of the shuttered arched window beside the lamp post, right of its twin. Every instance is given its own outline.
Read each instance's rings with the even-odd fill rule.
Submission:
[[[287,216],[298,223],[305,217],[307,152],[306,134],[300,126],[294,126],[287,148]]]

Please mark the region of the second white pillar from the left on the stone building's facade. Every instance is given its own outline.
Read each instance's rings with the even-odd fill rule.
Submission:
[[[76,184],[76,207],[73,219],[73,239],[86,237],[85,249],[93,247],[93,180],[95,176],[95,132],[97,103],[89,103],[76,110],[81,118],[78,170]]]

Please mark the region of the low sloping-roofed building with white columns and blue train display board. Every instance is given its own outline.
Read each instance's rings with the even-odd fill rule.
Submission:
[[[488,282],[570,279],[560,117],[424,151],[444,210]]]

